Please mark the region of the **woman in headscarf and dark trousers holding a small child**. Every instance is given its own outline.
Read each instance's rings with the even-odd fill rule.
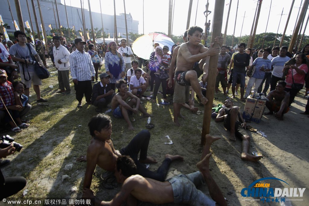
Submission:
[[[168,78],[167,70],[168,67],[164,67],[162,64],[162,55],[163,50],[160,46],[157,46],[155,48],[155,58],[154,58],[154,64],[155,64],[155,88],[154,88],[154,101],[157,99],[157,93],[160,87],[160,84],[162,83],[162,93],[163,93],[163,100],[167,102],[166,99],[166,79]]]

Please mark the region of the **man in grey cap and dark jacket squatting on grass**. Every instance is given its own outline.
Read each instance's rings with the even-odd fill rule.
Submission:
[[[95,109],[97,112],[102,112],[102,109],[107,107],[112,101],[112,94],[115,91],[112,90],[109,84],[110,77],[110,75],[104,72],[100,74],[101,81],[93,85],[91,104],[97,107],[97,109]]]

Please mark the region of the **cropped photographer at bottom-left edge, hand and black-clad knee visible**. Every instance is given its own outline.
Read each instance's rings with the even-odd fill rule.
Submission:
[[[0,140],[0,144],[2,141]],[[0,148],[0,158],[5,158],[15,152],[15,147],[13,143],[7,148]],[[0,170],[0,200],[16,194],[18,191],[22,190],[27,184],[27,181],[23,177],[8,177],[4,178]]]

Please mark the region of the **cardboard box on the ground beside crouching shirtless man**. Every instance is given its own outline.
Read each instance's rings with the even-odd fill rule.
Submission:
[[[266,101],[247,98],[243,109],[243,118],[252,122],[260,123],[265,110]]]

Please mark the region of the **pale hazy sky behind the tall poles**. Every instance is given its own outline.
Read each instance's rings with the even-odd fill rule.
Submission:
[[[88,1],[83,0],[85,3],[85,8],[88,9]],[[64,0],[61,0],[64,2]],[[66,0],[67,5],[76,6],[80,8],[80,0]],[[192,4],[192,12],[191,12],[191,20],[190,26],[195,25],[195,15],[197,11],[196,25],[205,29],[205,16],[203,12],[205,11],[205,2],[201,0],[193,0]],[[91,3],[91,11],[100,12],[99,0],[90,0]],[[101,0],[102,3],[102,13],[104,14],[114,14],[114,3],[112,0]],[[151,32],[165,32],[168,31],[168,0],[144,0],[144,33]],[[173,0],[174,3],[174,0]],[[198,3],[198,8],[197,8]],[[208,15],[208,19],[213,19],[214,15],[214,0],[209,0],[209,10],[212,11],[210,15]],[[224,33],[226,17],[229,8],[230,0],[225,0],[224,13],[223,13],[223,22],[222,22],[222,33]],[[270,0],[264,0],[261,6],[260,18],[256,30],[256,34],[264,33],[267,24],[267,18],[269,14]],[[238,6],[238,14],[236,20],[236,28],[235,28],[235,36],[240,35],[242,23],[243,30],[241,35],[249,35],[252,27],[254,12],[256,9],[257,1],[255,0],[239,0]],[[292,34],[295,26],[295,22],[298,15],[299,6],[301,4],[301,0],[295,0],[293,11],[290,17],[290,21],[288,24],[288,28],[286,30],[286,34]],[[173,21],[173,30],[172,33],[174,35],[181,35],[186,29],[187,17],[188,17],[188,7],[189,0],[175,0],[175,10],[174,10],[174,21]],[[303,6],[303,5],[302,5]],[[134,20],[139,21],[138,32],[143,33],[143,0],[125,0],[126,13],[131,13]],[[278,33],[283,33],[284,27],[286,24],[287,16],[290,11],[291,1],[287,0],[273,0],[270,10],[270,17],[267,27],[267,32],[277,33],[279,20],[281,16],[282,9],[283,15],[279,27]],[[237,0],[232,0],[231,3],[231,11],[228,21],[227,34],[233,34],[234,24],[235,24],[235,16],[236,16],[236,8],[237,8]],[[244,13],[245,18],[243,22]],[[116,14],[124,13],[124,5],[123,0],[116,0]],[[308,12],[309,13],[309,12]],[[305,15],[305,22],[308,17],[308,13]],[[101,21],[101,20],[99,20]],[[304,23],[305,24],[305,23]],[[213,25],[211,24],[211,27]],[[305,25],[304,25],[305,26]],[[303,29],[304,29],[303,26]],[[303,29],[302,32],[303,33]],[[307,27],[305,34],[309,35],[309,26]]]

